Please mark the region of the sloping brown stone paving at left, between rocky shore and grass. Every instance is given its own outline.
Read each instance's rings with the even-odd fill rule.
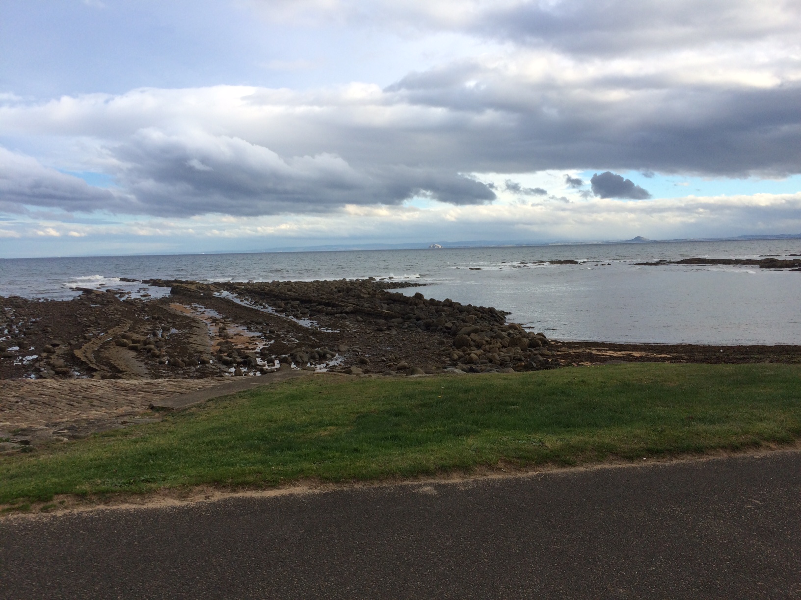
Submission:
[[[114,418],[222,383],[207,379],[9,379],[0,381],[0,429]]]

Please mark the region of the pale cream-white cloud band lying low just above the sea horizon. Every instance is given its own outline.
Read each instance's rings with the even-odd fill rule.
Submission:
[[[14,236],[6,256],[64,254],[80,247],[107,252],[196,251],[315,246],[322,243],[427,242],[437,238],[548,242],[564,240],[699,238],[801,230],[801,193],[755,194],[587,202],[478,206],[347,205],[328,214],[195,218],[147,218],[135,222],[75,226],[57,222],[4,224]],[[54,230],[60,234],[42,235]],[[81,238],[70,231],[84,233]],[[0,231],[0,236],[7,235]],[[226,241],[226,242],[223,242]],[[78,244],[78,246],[75,246]],[[42,250],[43,248],[49,250]],[[106,250],[103,250],[106,249]],[[74,250],[71,250],[74,252]]]

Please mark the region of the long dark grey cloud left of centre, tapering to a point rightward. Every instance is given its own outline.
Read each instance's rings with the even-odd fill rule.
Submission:
[[[344,204],[399,204],[414,195],[451,204],[492,201],[485,184],[406,166],[356,170],[336,154],[284,159],[240,138],[140,132],[113,150],[137,212],[258,215],[327,212]]]

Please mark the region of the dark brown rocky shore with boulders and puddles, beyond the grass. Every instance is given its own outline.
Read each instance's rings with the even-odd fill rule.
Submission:
[[[83,290],[0,298],[0,378],[487,373],[609,361],[799,362],[799,346],[554,342],[487,306],[425,298],[411,282],[147,280],[163,298]],[[400,293],[406,288],[405,293]]]

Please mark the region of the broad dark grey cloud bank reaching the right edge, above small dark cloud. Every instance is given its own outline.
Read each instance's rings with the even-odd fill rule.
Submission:
[[[452,134],[448,157],[458,160],[461,170],[509,173],[604,164],[737,177],[801,170],[799,83],[647,89],[632,76],[626,86],[586,85],[598,99],[572,94],[570,85],[529,84],[477,62],[458,62],[409,74],[392,86],[392,94],[465,120],[472,114],[495,117],[491,126],[469,123]],[[626,98],[617,102],[602,99],[623,90]],[[459,143],[465,138],[473,142]]]

